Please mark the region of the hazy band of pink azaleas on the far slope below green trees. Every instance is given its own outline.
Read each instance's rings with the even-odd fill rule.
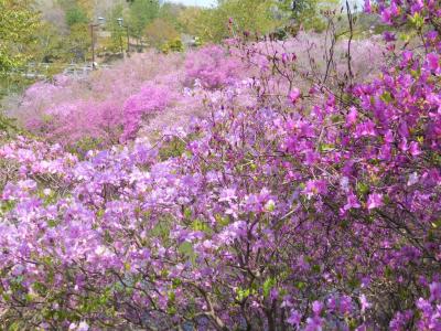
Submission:
[[[226,89],[230,95],[237,85],[262,73],[267,77],[260,81],[270,82],[270,93],[283,97],[289,85],[308,90],[313,81],[323,79],[332,86],[347,76],[343,40],[333,46],[332,67],[330,55],[313,60],[313,54],[331,53],[324,34],[303,32],[287,42],[259,41],[246,47],[233,43],[186,54],[136,54],[85,77],[58,75],[32,85],[20,105],[8,113],[36,136],[87,150],[151,136],[176,121],[189,122],[192,116],[207,116],[204,99],[219,100]],[[378,73],[384,52],[378,40],[354,41],[354,79],[368,79]],[[290,84],[267,70],[282,53],[295,57]],[[291,63],[283,61],[284,65]],[[250,104],[255,93],[249,92],[241,93],[237,99],[240,105]]]

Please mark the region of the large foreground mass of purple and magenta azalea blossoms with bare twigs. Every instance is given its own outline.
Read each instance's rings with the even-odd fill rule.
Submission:
[[[1,328],[439,330],[441,9],[366,9],[420,17],[422,51],[388,35],[377,75],[326,82],[235,39],[254,76],[183,90],[186,126],[80,159],[3,143]],[[154,82],[133,122],[175,106]]]

